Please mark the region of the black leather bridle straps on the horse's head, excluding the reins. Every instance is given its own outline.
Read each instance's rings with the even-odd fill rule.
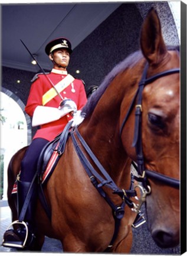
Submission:
[[[135,125],[134,125],[134,138],[133,138],[133,144],[132,146],[136,148],[136,164],[133,162],[134,168],[136,168],[137,173],[139,174],[139,177],[134,176],[134,179],[142,182],[143,187],[148,190],[147,187],[147,178],[153,178],[154,180],[157,180],[161,183],[164,183],[166,185],[169,185],[170,187],[178,188],[180,185],[180,181],[176,180],[174,178],[170,178],[169,176],[159,174],[158,172],[145,169],[144,166],[144,158],[143,158],[143,150],[142,150],[142,92],[145,87],[145,85],[150,84],[151,82],[155,81],[158,78],[161,78],[162,76],[172,75],[173,73],[179,73],[180,69],[169,69],[168,71],[164,71],[161,73],[158,73],[154,76],[151,76],[150,78],[146,78],[147,76],[147,69],[148,69],[148,63],[146,63],[145,69],[143,71],[142,79],[139,82],[139,87],[136,91],[136,94],[134,95],[134,98],[132,100],[132,103],[130,104],[129,110],[127,111],[126,116],[124,117],[122,126],[120,128],[120,136],[122,135],[122,130],[124,127],[124,124],[126,123],[130,112],[132,111],[134,101],[137,98],[137,104],[136,104],[136,111],[135,111]]]

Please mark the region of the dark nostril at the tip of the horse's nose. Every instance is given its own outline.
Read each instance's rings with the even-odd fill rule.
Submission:
[[[173,237],[172,234],[165,231],[155,231],[152,237],[156,244],[161,248],[173,247]]]

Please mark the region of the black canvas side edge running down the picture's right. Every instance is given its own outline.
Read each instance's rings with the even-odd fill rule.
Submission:
[[[186,252],[186,6],[181,2],[181,254]]]

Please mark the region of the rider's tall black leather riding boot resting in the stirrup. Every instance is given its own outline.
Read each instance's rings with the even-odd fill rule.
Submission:
[[[17,249],[32,250],[35,242],[34,235],[34,211],[37,198],[37,184],[32,186],[31,199],[28,201],[28,207],[25,206],[25,199],[27,197],[31,183],[17,180],[17,199],[18,199],[18,216],[19,220],[12,222],[12,225],[18,224],[17,230],[8,229],[4,233],[4,240],[2,245],[4,247],[11,247]],[[27,207],[25,216],[22,214],[22,209]]]

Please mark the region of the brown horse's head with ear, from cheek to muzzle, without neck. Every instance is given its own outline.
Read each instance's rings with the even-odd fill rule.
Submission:
[[[159,178],[166,175],[166,180],[179,180],[179,52],[165,46],[159,17],[154,9],[143,23],[140,43],[147,62],[141,103],[138,103],[140,92],[136,97],[136,104],[140,104],[136,105],[139,108],[136,108],[136,115],[141,112],[142,124],[139,126],[142,132],[137,130],[132,136],[129,132],[128,136],[127,124],[123,131],[123,144],[127,145],[127,141],[132,143],[133,136],[142,137],[143,166],[150,174],[147,180],[151,193],[146,197],[149,229],[159,247],[175,247],[179,244],[179,189],[151,174],[159,174]],[[134,126],[136,130],[136,122]],[[141,155],[136,139],[134,145]],[[139,153],[129,148],[128,144],[126,151],[129,155],[141,162]]]

